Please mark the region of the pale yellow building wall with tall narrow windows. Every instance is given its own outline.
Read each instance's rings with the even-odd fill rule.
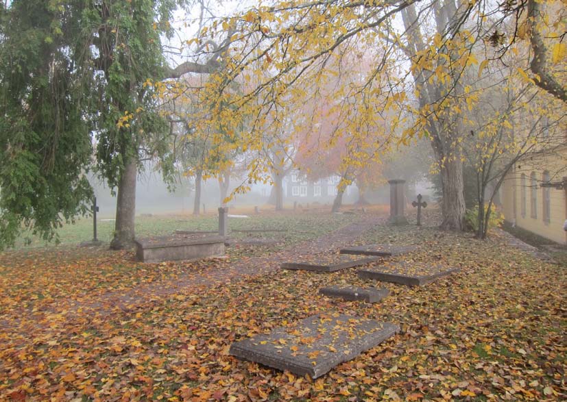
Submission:
[[[553,240],[559,244],[567,245],[567,232],[563,230],[563,223],[567,219],[567,189],[549,188],[550,195],[550,220],[544,222],[544,191],[541,184],[543,173],[548,171],[551,182],[557,183],[567,177],[567,148],[559,149],[553,155],[542,158],[531,158],[531,160],[520,161],[514,166],[514,171],[509,173],[503,184],[502,212],[506,221],[515,223],[517,227],[531,231],[539,236]],[[535,173],[538,186],[536,195],[537,216],[531,216],[531,173]],[[522,182],[521,175],[524,173],[525,181],[525,215],[522,216]]]

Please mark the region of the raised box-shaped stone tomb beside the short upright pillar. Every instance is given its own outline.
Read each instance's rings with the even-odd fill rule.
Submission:
[[[210,234],[174,234],[136,239],[136,257],[141,262],[200,260],[224,255],[224,237]]]

